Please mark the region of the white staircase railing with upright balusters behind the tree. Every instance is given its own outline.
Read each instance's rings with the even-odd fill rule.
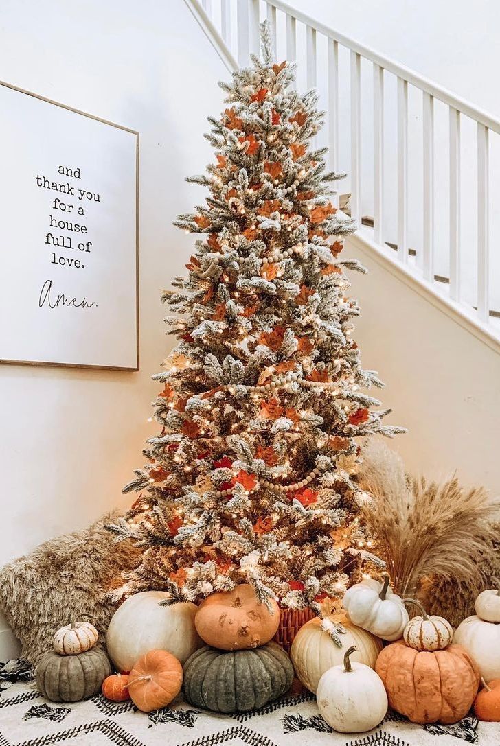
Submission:
[[[228,69],[249,62],[269,19],[277,59],[298,60],[299,84],[319,90],[318,145],[349,173],[360,236],[498,345],[500,122],[281,0],[186,2]]]

